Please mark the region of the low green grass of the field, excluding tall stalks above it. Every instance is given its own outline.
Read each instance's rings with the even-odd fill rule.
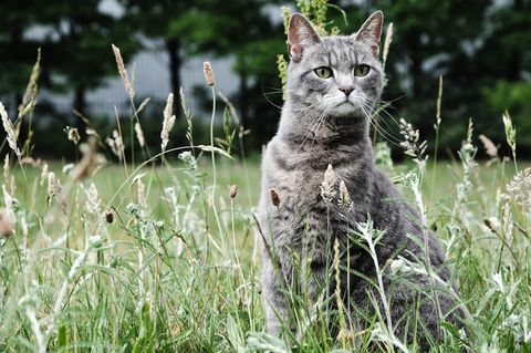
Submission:
[[[208,155],[199,157],[197,169],[184,163],[147,165],[135,174],[128,168],[128,177],[123,166],[107,165],[81,181],[52,163],[50,170],[61,179],[63,194],[51,200],[48,181],[40,185],[40,168],[25,166],[22,173],[15,167],[15,233],[1,243],[1,350],[42,351],[42,345],[60,352],[367,349],[369,332],[361,334],[360,342],[365,343],[324,339],[319,330],[285,341],[264,335],[260,239],[252,218],[260,191],[259,166],[218,157],[218,226],[209,199],[208,159]],[[398,176],[412,168],[398,165],[388,173]],[[431,180],[431,170],[436,175],[435,186],[424,183],[428,221],[445,240],[464,302],[472,313],[462,342],[449,334],[441,350],[528,346],[521,335],[527,334],[524,318],[530,313],[529,238],[522,233],[529,230],[529,214],[513,205],[518,227],[511,239],[500,239],[485,226],[485,219],[498,220],[500,236],[509,237],[502,229],[497,194],[504,190],[512,165],[473,167],[464,215],[456,204],[462,168],[439,162],[435,169],[426,169],[425,181]],[[138,179],[145,185],[145,206],[138,198]],[[97,214],[85,207],[92,183],[101,199]],[[233,199],[231,185],[239,187]],[[164,199],[168,187],[175,189],[175,205]],[[415,204],[407,188],[404,195]],[[107,224],[104,214],[111,206],[114,221]],[[507,245],[511,248],[504,249]],[[82,260],[77,267],[76,259]],[[503,291],[493,281],[494,273]],[[58,302],[62,289],[64,297]],[[386,351],[397,350],[381,344]]]

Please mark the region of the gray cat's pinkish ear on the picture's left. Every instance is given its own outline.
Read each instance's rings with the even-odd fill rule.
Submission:
[[[312,23],[301,13],[293,13],[288,29],[288,50],[295,62],[301,61],[302,52],[308,46],[321,42],[321,38]]]

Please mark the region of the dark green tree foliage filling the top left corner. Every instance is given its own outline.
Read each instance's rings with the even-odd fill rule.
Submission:
[[[116,71],[111,43],[124,54],[136,50],[126,22],[100,9],[101,0],[6,0],[0,12],[0,94],[20,97],[42,46],[41,84],[56,92],[74,92],[73,106],[83,112],[87,91],[102,85]],[[29,35],[29,32],[39,34]],[[128,55],[125,55],[128,56]],[[18,98],[17,101],[20,101]]]

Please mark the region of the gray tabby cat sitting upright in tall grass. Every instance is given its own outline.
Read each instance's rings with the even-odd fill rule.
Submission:
[[[321,38],[302,14],[290,19],[287,100],[279,131],[263,155],[259,205],[266,242],[262,293],[272,334],[280,334],[282,326],[294,330],[287,300],[291,291],[300,290],[313,302],[321,295],[333,297],[335,239],[343,267],[350,266],[340,278],[341,295],[358,325],[353,329],[361,330],[372,320],[375,305],[369,293],[376,300],[379,297],[363,278],[375,279],[374,262],[352,240],[358,222],[371,219],[374,228],[385,231],[376,247],[381,267],[398,253],[406,259],[425,258],[419,217],[399,201],[396,188],[376,169],[368,138],[369,115],[384,85],[377,59],[382,25],[383,13],[377,11],[355,34]],[[339,183],[331,193],[333,199],[323,199],[321,186],[329,165],[350,194],[347,210],[339,205]],[[445,255],[435,235],[427,237],[429,261],[448,281]],[[424,288],[430,283],[418,274],[408,280]],[[455,305],[444,292],[438,294],[440,318],[435,302],[415,291],[415,285],[394,285],[388,278],[384,285],[396,334],[412,340],[414,324],[408,320],[418,315],[423,325],[415,332],[424,345],[428,336],[440,338],[440,320],[456,320]],[[327,302],[336,309],[335,300]],[[382,302],[378,305],[382,312]]]

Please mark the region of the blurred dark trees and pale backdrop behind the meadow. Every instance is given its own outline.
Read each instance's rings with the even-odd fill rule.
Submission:
[[[84,134],[74,111],[102,136],[116,126],[115,106],[129,120],[111,50],[114,43],[129,75],[134,72],[136,104],[152,97],[140,115],[147,143],[158,148],[166,97],[179,87],[200,143],[207,136],[211,104],[202,62],[210,61],[218,90],[250,131],[246,149],[258,154],[274,134],[282,105],[277,68],[278,54],[285,53],[282,6],[296,9],[294,1],[275,0],[1,0],[0,101],[12,117],[17,115],[41,48],[33,155],[74,157],[63,132],[77,126]],[[470,117],[476,135],[485,134],[507,150],[501,120],[506,110],[517,127],[520,157],[531,156],[531,1],[329,1],[326,17],[331,27],[350,34],[376,9],[384,11],[386,25],[394,22],[384,100],[391,102],[387,112],[396,121],[404,117],[420,129],[423,139],[433,141],[440,75],[441,156],[450,157],[450,150],[459,148]],[[220,102],[220,113],[223,106]],[[178,100],[174,112],[169,147],[186,145]],[[387,123],[383,126],[399,137],[393,120],[382,117]],[[24,131],[19,141],[25,139]],[[3,129],[0,137],[3,155]]]

